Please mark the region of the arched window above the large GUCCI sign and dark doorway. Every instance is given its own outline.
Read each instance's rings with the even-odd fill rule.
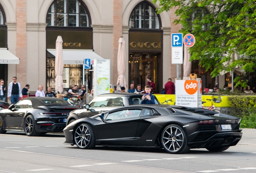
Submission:
[[[155,8],[147,2],[138,4],[131,13],[129,26],[131,28],[160,29],[160,22]]]

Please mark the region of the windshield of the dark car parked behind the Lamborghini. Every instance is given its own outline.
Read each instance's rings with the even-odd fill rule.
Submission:
[[[98,96],[90,104],[90,107],[122,107],[124,106],[123,98],[116,96]]]

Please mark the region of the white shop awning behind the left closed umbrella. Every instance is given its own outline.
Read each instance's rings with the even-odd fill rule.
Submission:
[[[47,49],[48,52],[56,55],[55,49]],[[63,49],[63,62],[64,64],[84,64],[84,59],[104,59],[93,50],[74,50],[74,49]]]

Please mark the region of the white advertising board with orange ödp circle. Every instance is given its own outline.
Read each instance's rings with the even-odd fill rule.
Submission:
[[[202,80],[175,80],[176,105],[202,107]]]

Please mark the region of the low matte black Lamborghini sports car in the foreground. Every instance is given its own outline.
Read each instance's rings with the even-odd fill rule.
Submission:
[[[242,137],[241,119],[201,108],[171,105],[133,105],[65,127],[64,144],[91,149],[95,145],[162,147],[168,153],[191,148],[224,151]]]

